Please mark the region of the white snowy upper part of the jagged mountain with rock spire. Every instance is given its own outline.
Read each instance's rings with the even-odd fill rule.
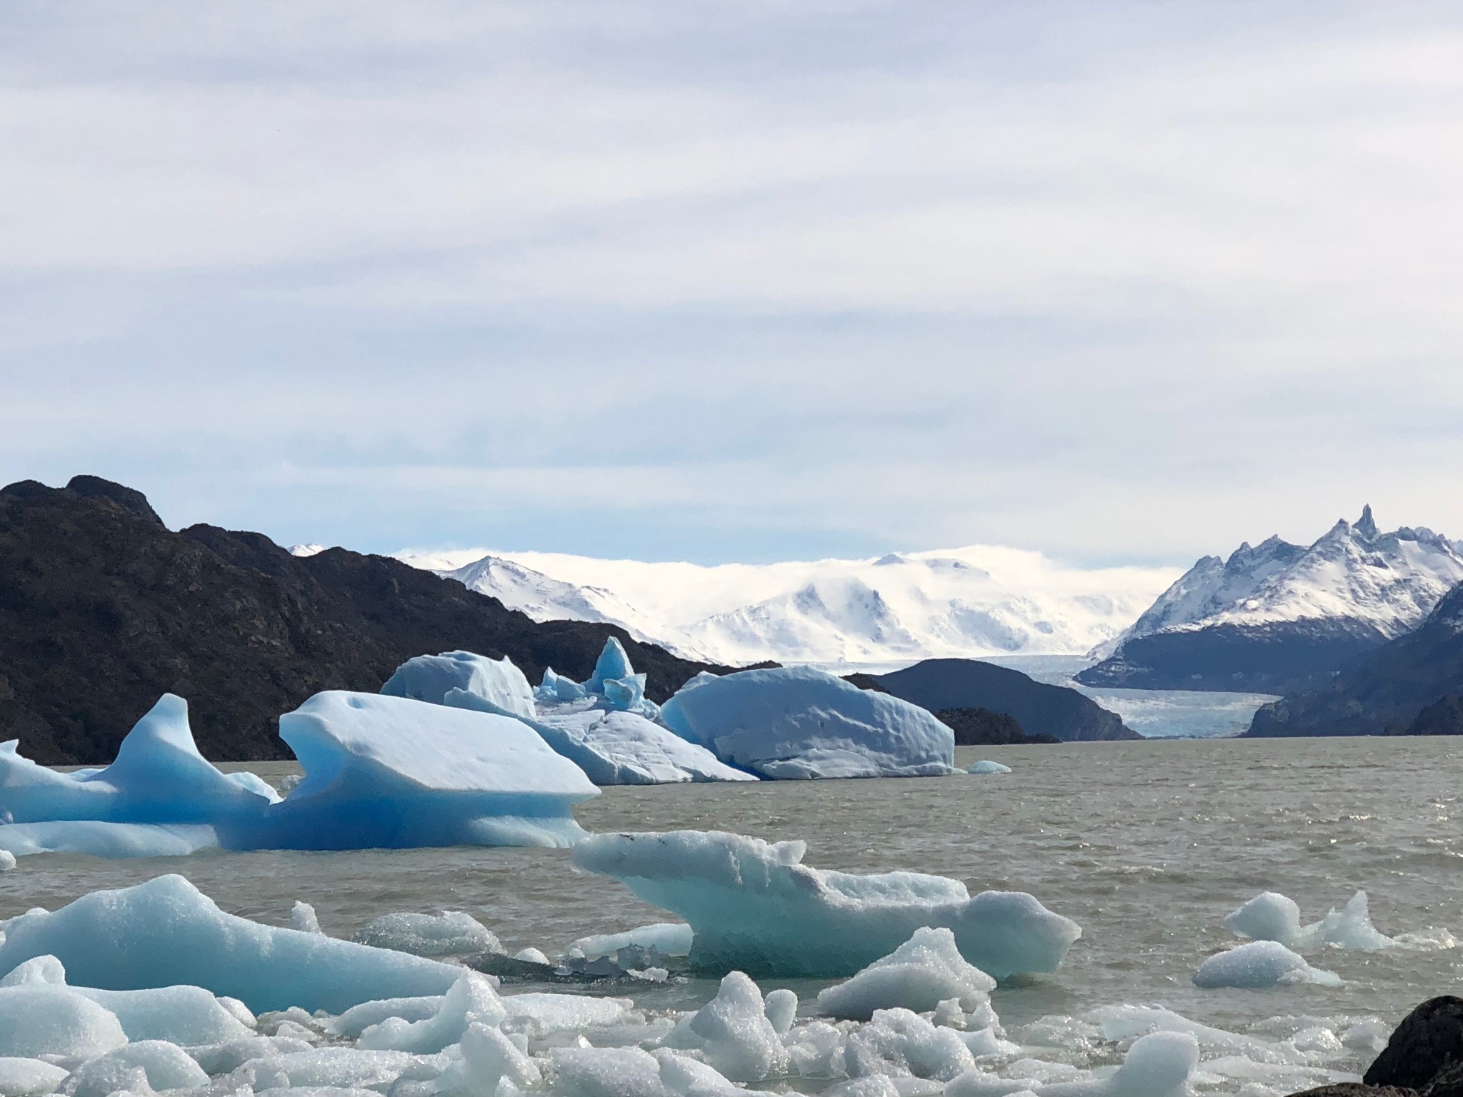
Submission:
[[[1312,546],[1279,537],[1206,556],[1148,607],[1116,644],[1220,625],[1355,622],[1391,639],[1415,629],[1456,584],[1463,550],[1426,528],[1378,532],[1371,508]]]

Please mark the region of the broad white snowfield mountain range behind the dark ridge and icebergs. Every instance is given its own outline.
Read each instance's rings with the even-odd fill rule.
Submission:
[[[642,563],[546,553],[402,554],[534,620],[594,620],[689,658],[895,666],[930,657],[1083,654],[1134,620],[1173,570],[1064,568],[971,546],[876,560]]]

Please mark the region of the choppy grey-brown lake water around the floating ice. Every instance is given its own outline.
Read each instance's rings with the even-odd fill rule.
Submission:
[[[1457,989],[1463,949],[1311,955],[1346,980],[1340,987],[1197,990],[1189,976],[1236,943],[1220,919],[1264,889],[1295,898],[1311,921],[1365,888],[1384,933],[1448,927],[1463,936],[1463,742],[1078,743],[961,747],[960,756],[993,758],[1015,772],[607,788],[578,816],[595,831],[805,838],[806,862],[818,867],[911,869],[963,879],[971,891],[1030,891],[1084,935],[1055,976],[996,992],[996,1009],[1014,1025],[1124,1002],[1163,1003],[1225,1028],[1286,1015],[1394,1022],[1423,998]],[[256,769],[278,778],[288,766]],[[224,910],[275,924],[306,900],[339,936],[392,910],[455,908],[512,949],[554,955],[585,933],[664,920],[614,881],[572,872],[562,851],[483,848],[25,857],[0,876],[0,917],[164,872],[184,873]],[[679,1005],[711,989],[654,993]]]

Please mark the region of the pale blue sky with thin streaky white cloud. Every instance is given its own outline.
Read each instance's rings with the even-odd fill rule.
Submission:
[[[701,563],[1463,537],[1463,9],[0,18],[0,483]]]

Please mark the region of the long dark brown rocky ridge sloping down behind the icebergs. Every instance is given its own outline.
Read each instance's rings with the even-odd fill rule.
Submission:
[[[0,740],[51,765],[105,762],[164,692],[217,761],[290,758],[281,712],[322,689],[376,690],[407,658],[465,648],[593,673],[619,636],[647,693],[699,670],[584,622],[537,625],[383,556],[296,557],[263,534],[170,531],[140,491],[97,477],[0,489]]]

